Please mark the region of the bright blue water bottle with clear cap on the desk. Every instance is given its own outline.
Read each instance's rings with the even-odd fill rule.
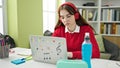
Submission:
[[[86,61],[88,68],[91,68],[92,44],[90,42],[89,33],[85,33],[84,41],[82,43],[82,60]]]

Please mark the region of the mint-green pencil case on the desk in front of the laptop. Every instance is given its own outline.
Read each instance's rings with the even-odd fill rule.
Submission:
[[[57,68],[88,68],[88,65],[82,60],[59,60]]]

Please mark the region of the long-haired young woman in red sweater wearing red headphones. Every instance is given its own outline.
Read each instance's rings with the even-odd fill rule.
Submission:
[[[67,41],[68,58],[81,59],[82,42],[86,32],[90,33],[92,58],[99,58],[100,52],[94,37],[94,29],[83,19],[78,9],[70,2],[63,3],[58,9],[59,20],[52,36],[64,37]]]

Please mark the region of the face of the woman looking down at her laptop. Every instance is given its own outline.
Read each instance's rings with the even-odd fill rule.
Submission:
[[[75,17],[74,15],[71,15],[67,10],[63,9],[60,10],[60,20],[63,22],[63,24],[68,27],[71,28],[73,26],[76,25],[75,22]]]

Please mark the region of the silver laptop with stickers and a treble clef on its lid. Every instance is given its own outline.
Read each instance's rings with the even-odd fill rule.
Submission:
[[[31,35],[29,40],[33,60],[56,64],[60,59],[67,59],[65,38]]]

